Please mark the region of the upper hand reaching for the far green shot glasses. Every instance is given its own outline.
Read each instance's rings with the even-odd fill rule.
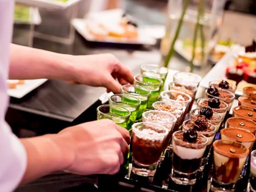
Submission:
[[[121,92],[121,85],[133,83],[131,71],[112,54],[71,55],[68,59],[75,71],[69,83],[102,86],[114,93]]]

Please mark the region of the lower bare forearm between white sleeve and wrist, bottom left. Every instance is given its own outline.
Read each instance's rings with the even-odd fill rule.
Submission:
[[[27,167],[22,183],[63,170],[73,161],[73,155],[69,153],[71,150],[63,142],[66,139],[58,137],[57,134],[49,134],[21,139],[27,152]]]

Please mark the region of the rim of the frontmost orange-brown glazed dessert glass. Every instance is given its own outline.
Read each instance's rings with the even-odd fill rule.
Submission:
[[[242,154],[230,154],[227,155],[225,154],[222,150],[219,150],[218,147],[216,146],[219,142],[221,143],[226,143],[226,144],[234,144],[234,145],[238,145],[241,146],[243,149],[245,149],[245,152]],[[247,155],[249,154],[249,149],[247,147],[245,147],[244,145],[242,145],[241,143],[235,142],[235,141],[229,141],[229,140],[224,140],[224,139],[219,139],[213,142],[213,150],[218,153],[221,154],[225,157],[228,158],[243,158],[243,157],[247,157]]]

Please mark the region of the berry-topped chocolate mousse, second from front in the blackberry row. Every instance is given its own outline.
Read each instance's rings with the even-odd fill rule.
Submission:
[[[191,119],[184,121],[182,127],[185,131],[188,129],[195,129],[198,131],[198,133],[203,134],[208,139],[207,145],[211,145],[215,133],[217,132],[216,127],[214,125],[210,125],[204,115],[198,115],[194,121]]]

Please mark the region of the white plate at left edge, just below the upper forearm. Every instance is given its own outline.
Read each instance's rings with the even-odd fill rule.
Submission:
[[[10,97],[22,98],[26,94],[30,93],[30,91],[39,87],[43,83],[45,83],[47,79],[31,79],[25,80],[25,83],[22,85],[17,85],[15,89],[7,89],[7,93]],[[7,80],[8,82],[8,80]]]

